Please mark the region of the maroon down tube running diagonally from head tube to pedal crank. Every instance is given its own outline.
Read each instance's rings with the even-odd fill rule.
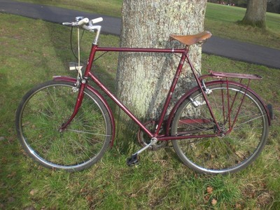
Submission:
[[[127,116],[129,116],[135,123],[137,123],[137,125],[139,125],[139,127],[141,127],[142,130],[144,130],[144,132],[146,132],[146,134],[148,134],[148,136],[150,138],[154,137],[154,135],[151,133],[150,130],[148,130],[142,123],[141,121],[133,115],[133,113],[131,113],[131,111],[129,109],[127,109],[127,107],[125,105],[123,105],[114,95],[113,93],[110,92],[110,90],[108,90],[105,85],[102,84],[102,82],[100,82],[100,80],[98,80],[93,74],[92,72],[90,72],[88,74],[90,76],[90,78],[94,81],[94,83],[96,83],[112,100],[113,102],[115,102],[120,109],[122,109]]]

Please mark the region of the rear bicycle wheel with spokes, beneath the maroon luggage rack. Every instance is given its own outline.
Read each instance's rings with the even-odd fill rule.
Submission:
[[[225,133],[229,130],[229,121],[234,122],[238,104],[241,104],[244,96],[232,132],[225,134],[225,137],[175,140],[174,150],[185,165],[197,172],[203,174],[238,172],[250,165],[266,144],[269,123],[265,107],[251,90],[246,91],[241,85],[231,83],[227,89],[227,84],[221,81],[218,84],[210,84],[207,88],[211,91],[207,94],[207,99],[218,125]],[[194,105],[198,105],[197,108]],[[228,111],[228,107],[231,107],[231,112]],[[176,111],[172,121],[172,136],[215,134],[217,127],[211,119],[213,118],[202,92],[196,90],[186,97]]]

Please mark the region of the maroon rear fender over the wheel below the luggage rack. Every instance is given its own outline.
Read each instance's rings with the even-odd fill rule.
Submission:
[[[205,85],[209,86],[209,85],[216,85],[216,84],[219,84],[219,83],[227,83],[227,81],[226,80],[214,80],[214,81],[209,81],[209,82],[205,83]],[[237,85],[238,87],[243,87],[245,89],[247,88],[246,85],[243,85],[241,83],[237,83],[235,81],[228,81],[228,84],[229,85]],[[172,126],[172,120],[174,118],[174,115],[175,115],[177,109],[179,109],[179,106],[181,105],[181,103],[183,103],[183,101],[186,98],[188,98],[191,94],[193,94],[195,91],[197,91],[199,89],[200,89],[200,87],[198,87],[198,86],[193,87],[193,89],[186,92],[186,94],[183,94],[183,96],[179,99],[179,101],[176,102],[176,104],[174,105],[172,111],[170,112],[169,118],[167,120],[167,126],[166,126],[166,130],[165,130],[166,134],[170,134],[170,128]],[[257,93],[255,93],[253,90],[251,90],[251,88],[248,87],[247,91],[251,92],[252,94],[255,95],[255,97],[258,98],[258,100],[260,101],[262,106],[265,108],[265,112],[267,113],[268,123],[269,123],[269,125],[271,125],[271,118],[270,118],[269,110],[267,109],[267,105],[265,104],[265,102],[263,102],[262,98]]]

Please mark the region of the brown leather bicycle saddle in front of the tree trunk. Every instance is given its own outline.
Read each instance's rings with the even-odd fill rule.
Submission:
[[[186,35],[186,36],[180,36],[174,34],[170,35],[171,38],[174,38],[185,45],[193,45],[195,43],[200,43],[202,41],[207,40],[211,36],[212,34],[209,31],[203,31],[200,34]]]

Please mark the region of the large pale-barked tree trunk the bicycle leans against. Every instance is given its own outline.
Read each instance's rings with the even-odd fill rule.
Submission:
[[[137,48],[174,48],[170,34],[195,34],[204,29],[207,0],[123,1],[120,45]],[[176,43],[178,47],[179,43]],[[180,45],[180,47],[183,47]],[[201,47],[193,45],[191,59],[201,68]],[[123,52],[117,71],[118,97],[139,118],[157,119],[165,103],[179,58],[172,54]],[[174,97],[193,84],[185,64]]]

